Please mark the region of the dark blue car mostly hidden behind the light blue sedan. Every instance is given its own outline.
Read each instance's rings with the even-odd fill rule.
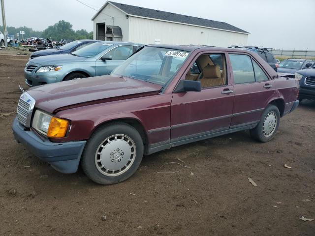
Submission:
[[[91,39],[83,39],[83,40],[76,40],[71,43],[65,44],[60,48],[56,49],[46,49],[37,51],[31,54],[30,59],[34,59],[40,56],[47,56],[47,55],[56,55],[56,54],[69,54],[72,53],[80,48],[84,48],[85,46],[97,42],[96,40]]]

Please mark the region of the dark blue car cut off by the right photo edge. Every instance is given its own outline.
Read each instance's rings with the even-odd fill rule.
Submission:
[[[299,100],[315,100],[315,64],[308,69],[297,71],[295,78],[300,82]]]

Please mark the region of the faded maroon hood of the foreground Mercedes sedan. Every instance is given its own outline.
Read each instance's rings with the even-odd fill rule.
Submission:
[[[149,95],[162,86],[120,76],[97,76],[37,86],[28,90],[35,99],[35,107],[49,113],[57,109],[87,102],[102,102],[107,98],[122,99],[129,95]]]

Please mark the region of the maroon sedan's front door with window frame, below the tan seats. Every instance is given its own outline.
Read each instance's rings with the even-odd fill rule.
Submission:
[[[226,54],[224,52],[213,54],[224,60],[223,68],[220,69],[221,76],[224,74],[223,80],[226,82],[219,86],[204,87],[200,92],[174,93],[171,106],[171,142],[173,143],[198,139],[204,135],[229,129],[234,101],[233,86],[230,74],[226,70]],[[204,56],[204,53],[199,54],[194,61],[191,61],[182,79],[191,80],[189,79],[191,70],[197,73],[194,68],[195,61]],[[200,70],[203,69],[200,64],[198,66]]]

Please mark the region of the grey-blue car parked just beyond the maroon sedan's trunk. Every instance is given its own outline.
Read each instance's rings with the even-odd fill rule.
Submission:
[[[314,64],[314,60],[286,59],[280,62],[278,72],[294,74],[298,70],[304,70]]]

